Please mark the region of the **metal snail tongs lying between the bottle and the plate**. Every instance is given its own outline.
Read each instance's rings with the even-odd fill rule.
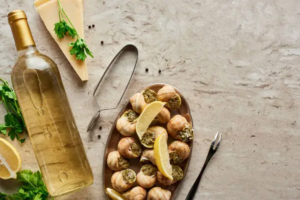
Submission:
[[[114,64],[114,62],[117,60],[117,58],[119,58],[120,55],[121,55],[123,52],[125,52],[125,51],[134,51],[134,52],[136,53],[136,60],[135,60],[135,64],[134,64],[133,70],[132,70],[132,72],[131,72],[130,78],[129,78],[128,82],[127,82],[127,85],[126,85],[126,87],[125,87],[125,90],[124,90],[124,92],[123,92],[123,94],[122,94],[120,100],[118,101],[118,104],[117,104],[115,107],[112,107],[112,108],[101,109],[101,108],[100,108],[100,105],[99,105],[99,103],[98,103],[98,101],[97,101],[97,99],[96,99],[96,97],[95,97],[95,94],[96,94],[97,90],[99,89],[99,86],[100,86],[102,80],[104,79],[105,75],[107,74],[107,72],[109,71],[109,69],[111,68],[111,66],[113,66],[113,64]],[[128,85],[129,85],[129,83],[130,83],[130,80],[131,80],[131,78],[132,78],[132,75],[133,75],[133,73],[134,73],[134,70],[135,70],[135,67],[136,67],[136,63],[137,63],[137,60],[138,60],[138,54],[139,54],[139,53],[138,53],[138,49],[137,49],[134,45],[131,45],[131,44],[126,45],[125,47],[123,47],[123,48],[115,55],[115,57],[112,59],[112,61],[111,61],[110,64],[108,65],[107,69],[105,70],[104,74],[103,74],[102,77],[100,78],[100,81],[98,82],[98,84],[97,84],[97,86],[96,86],[96,88],[95,88],[95,90],[94,90],[94,93],[93,93],[94,100],[95,100],[95,102],[96,102],[96,105],[98,106],[98,111],[97,111],[97,112],[94,114],[94,116],[92,117],[92,119],[91,119],[91,121],[90,121],[90,123],[89,123],[89,125],[88,125],[88,127],[87,127],[87,130],[86,130],[87,132],[94,128],[94,126],[96,125],[96,123],[97,123],[97,121],[98,121],[98,119],[99,119],[99,117],[100,117],[100,112],[101,112],[101,111],[116,109],[116,108],[119,106],[121,100],[123,99],[123,96],[125,95],[125,92],[126,92],[127,87],[128,87]]]

